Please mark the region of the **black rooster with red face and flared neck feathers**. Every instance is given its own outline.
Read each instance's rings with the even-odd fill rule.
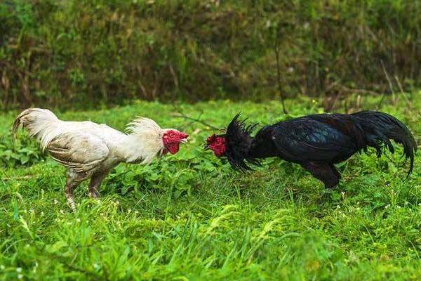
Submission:
[[[410,158],[408,176],[413,170],[417,150],[413,135],[402,122],[383,112],[309,115],[265,126],[254,138],[250,133],[256,124],[245,121],[236,115],[225,134],[207,139],[206,148],[217,157],[227,157],[234,169],[245,171],[250,169],[248,164],[259,164],[260,158],[281,157],[300,164],[326,188],[333,188],[340,180],[333,164],[368,146],[375,148],[377,157],[383,146],[393,153],[389,140],[394,140],[403,145],[405,159]]]

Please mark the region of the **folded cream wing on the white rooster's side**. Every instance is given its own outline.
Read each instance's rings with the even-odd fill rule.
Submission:
[[[109,148],[100,138],[88,133],[65,133],[51,141],[47,148],[60,164],[86,172],[107,159]]]

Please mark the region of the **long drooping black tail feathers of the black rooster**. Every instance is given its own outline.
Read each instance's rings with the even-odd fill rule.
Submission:
[[[382,144],[387,145],[390,152],[394,152],[389,140],[403,145],[405,162],[410,159],[410,168],[406,176],[408,178],[413,171],[414,154],[417,151],[417,143],[408,127],[392,115],[383,112],[362,111],[354,113],[353,116],[366,133],[367,145],[376,149],[377,157],[382,155]]]

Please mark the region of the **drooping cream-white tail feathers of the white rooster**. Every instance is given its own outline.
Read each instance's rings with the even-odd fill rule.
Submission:
[[[18,128],[22,125],[27,129],[30,137],[35,137],[41,145],[41,150],[46,150],[48,144],[55,138],[56,134],[51,130],[58,125],[60,119],[54,115],[50,110],[41,108],[28,108],[20,112],[13,123],[13,137],[12,143],[15,147],[15,138],[18,133]]]

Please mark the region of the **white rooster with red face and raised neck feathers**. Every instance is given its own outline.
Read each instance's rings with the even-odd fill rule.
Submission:
[[[62,121],[40,108],[28,108],[16,117],[13,139],[20,124],[39,141],[41,150],[67,167],[65,195],[73,211],[73,191],[81,181],[91,178],[89,192],[98,198],[102,180],[114,166],[120,162],[149,164],[154,157],[175,154],[188,137],[175,129],[161,129],[152,119],[142,117],[127,125],[126,134],[105,124]]]

